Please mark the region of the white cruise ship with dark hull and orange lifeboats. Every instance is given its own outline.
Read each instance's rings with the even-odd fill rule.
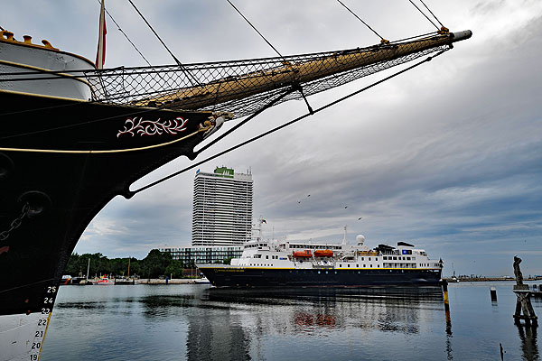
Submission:
[[[256,239],[244,245],[230,264],[198,264],[216,287],[367,287],[436,286],[442,259],[398,242],[369,248],[365,236],[356,245]]]

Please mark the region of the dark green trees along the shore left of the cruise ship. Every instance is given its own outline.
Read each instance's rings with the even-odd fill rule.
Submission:
[[[128,275],[128,262],[130,264],[130,277],[139,276],[140,278],[157,278],[160,276],[182,278],[184,268],[196,267],[193,261],[189,264],[183,264],[182,261],[173,260],[171,254],[153,249],[142,260],[135,257],[108,259],[107,256],[100,253],[84,255],[73,253],[70,256],[65,273],[72,276],[79,274],[85,276],[89,259],[89,277],[101,274],[126,277]]]

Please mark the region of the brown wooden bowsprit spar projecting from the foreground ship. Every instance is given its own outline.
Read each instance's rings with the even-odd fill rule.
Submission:
[[[254,71],[237,77],[211,81],[205,85],[182,88],[176,92],[146,97],[135,101],[136,106],[149,103],[175,109],[199,109],[212,106],[217,102],[226,102],[250,97],[276,88],[301,85],[322,79],[337,73],[366,67],[382,61],[395,60],[420,51],[439,46],[452,45],[469,39],[472,32],[453,32],[418,39],[411,42],[380,44],[369,48],[341,51],[298,63],[283,61],[282,67]]]

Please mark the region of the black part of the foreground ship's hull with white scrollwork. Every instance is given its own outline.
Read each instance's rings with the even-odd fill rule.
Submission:
[[[5,91],[0,100],[0,315],[46,315],[91,219],[145,174],[193,158],[210,113]],[[150,127],[132,126],[142,120]]]

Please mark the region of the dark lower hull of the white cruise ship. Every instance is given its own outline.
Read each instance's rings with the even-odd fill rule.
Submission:
[[[272,269],[205,267],[201,272],[216,287],[370,287],[436,286],[440,270],[424,269]]]

